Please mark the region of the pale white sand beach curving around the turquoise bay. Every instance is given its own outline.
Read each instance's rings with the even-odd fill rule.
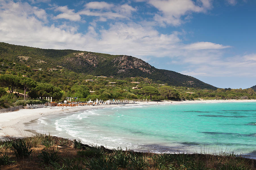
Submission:
[[[156,105],[156,104],[182,104],[182,103],[226,103],[226,102],[256,102],[256,100],[203,100],[203,101],[169,101],[166,102],[137,102],[139,104],[133,105]],[[30,137],[33,136],[25,124],[32,120],[38,119],[46,115],[55,115],[64,112],[76,112],[79,110],[91,110],[106,107],[117,107],[118,105],[100,105],[100,106],[86,106],[86,107],[73,107],[73,108],[38,108],[38,109],[21,109],[15,112],[0,114],[0,137]]]

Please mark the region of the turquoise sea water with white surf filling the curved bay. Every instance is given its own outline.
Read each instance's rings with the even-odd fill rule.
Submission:
[[[125,105],[45,116],[38,122],[42,133],[108,148],[234,152],[256,158],[256,102]]]

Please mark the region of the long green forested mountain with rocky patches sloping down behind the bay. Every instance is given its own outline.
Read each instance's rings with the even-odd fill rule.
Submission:
[[[61,71],[82,73],[94,76],[144,77],[152,81],[171,86],[194,87],[201,89],[217,88],[194,77],[180,73],[156,69],[145,61],[126,55],[110,55],[77,50],[53,50],[28,46],[18,46],[0,42],[0,61],[3,62],[1,74],[5,72],[5,64],[20,65],[20,70],[30,67],[37,71]],[[13,70],[15,71],[15,70]],[[13,74],[13,73],[12,73]]]

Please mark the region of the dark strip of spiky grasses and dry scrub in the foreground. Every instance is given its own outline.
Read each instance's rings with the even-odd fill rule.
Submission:
[[[253,170],[256,160],[234,154],[154,154],[84,145],[50,135],[0,142],[0,169]]]

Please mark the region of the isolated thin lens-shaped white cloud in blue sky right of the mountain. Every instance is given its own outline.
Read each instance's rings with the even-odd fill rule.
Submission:
[[[212,42],[195,42],[185,45],[183,49],[186,50],[220,50],[224,48],[230,48],[231,46],[223,46],[222,44],[215,44]]]

